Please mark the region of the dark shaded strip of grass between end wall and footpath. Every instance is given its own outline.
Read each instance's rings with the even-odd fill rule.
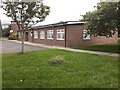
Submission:
[[[93,46],[80,46],[80,47],[77,47],[76,49],[120,53],[120,50],[118,50],[117,43],[104,44],[104,45],[93,45]]]

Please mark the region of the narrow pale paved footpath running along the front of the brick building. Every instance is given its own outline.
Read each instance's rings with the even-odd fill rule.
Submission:
[[[21,41],[17,41],[17,40],[10,40],[10,41],[16,42],[16,43],[21,43]],[[78,49],[72,49],[72,48],[66,48],[66,47],[47,46],[47,45],[31,43],[31,42],[24,42],[24,43],[27,44],[27,45],[40,46],[40,47],[43,47],[43,48],[55,48],[55,49],[63,49],[63,50],[73,51],[73,52],[82,52],[82,53],[91,53],[91,54],[97,54],[97,55],[120,57],[120,54],[117,54],[117,53],[88,51],[88,50],[80,50],[80,49],[78,50]]]

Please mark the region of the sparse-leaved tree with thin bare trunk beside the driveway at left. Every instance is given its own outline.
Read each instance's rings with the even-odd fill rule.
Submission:
[[[38,22],[44,21],[46,16],[49,15],[50,7],[43,5],[43,0],[36,0],[36,2],[22,2],[22,0],[14,0],[13,2],[7,0],[3,2],[2,8],[6,11],[5,15],[11,17],[18,25],[19,30],[22,31],[21,53],[24,53],[25,30]]]

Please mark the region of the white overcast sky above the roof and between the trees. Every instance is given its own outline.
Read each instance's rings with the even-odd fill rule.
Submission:
[[[50,6],[51,12],[45,21],[40,24],[79,20],[82,18],[80,15],[95,10],[94,6],[99,2],[100,0],[44,0],[44,4]],[[11,19],[3,13],[4,11],[0,9],[2,23],[10,22]]]

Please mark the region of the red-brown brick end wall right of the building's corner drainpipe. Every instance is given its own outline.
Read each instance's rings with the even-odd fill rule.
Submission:
[[[67,26],[67,47],[76,47],[81,45],[98,45],[98,44],[108,44],[117,41],[118,34],[116,33],[111,38],[106,38],[105,36],[93,37],[90,40],[83,40],[83,25],[68,25]]]

